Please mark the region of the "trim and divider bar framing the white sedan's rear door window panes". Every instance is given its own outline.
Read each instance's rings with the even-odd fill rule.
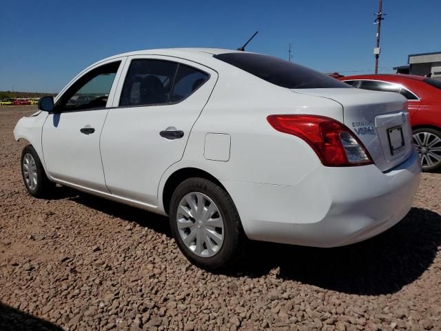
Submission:
[[[177,58],[177,59],[178,59],[178,58]],[[172,81],[172,87],[170,88],[170,92],[169,92],[169,96],[168,96],[168,99],[169,99],[169,100],[171,100],[171,98],[172,98],[172,92],[173,92],[173,89],[174,89],[174,84],[176,83],[176,76],[177,76],[177,74],[178,74],[178,70],[179,70],[179,66],[180,66],[180,65],[187,66],[187,67],[193,68],[194,70],[198,70],[198,71],[200,71],[200,72],[203,72],[204,74],[207,74],[208,78],[207,78],[207,79],[206,79],[206,80],[205,80],[200,86],[198,86],[198,88],[196,88],[196,90],[192,91],[191,94],[188,94],[187,97],[185,97],[185,98],[183,98],[183,99],[181,99],[181,100],[179,100],[179,101],[168,101],[168,102],[163,102],[163,103],[148,103],[148,104],[145,104],[145,105],[120,106],[119,103],[121,103],[121,95],[123,94],[123,88],[124,88],[125,80],[127,79],[127,72],[129,72],[129,70],[130,70],[130,66],[132,66],[132,61],[134,61],[134,60],[165,61],[165,62],[172,62],[172,63],[175,63],[175,64],[177,65],[177,66],[176,66],[176,71],[174,72],[174,77],[173,77],[173,81]],[[189,60],[187,60],[187,61],[189,61]],[[121,75],[121,76],[122,76],[122,75]],[[202,86],[204,86],[205,83],[207,83],[207,81],[209,81],[211,78],[212,78],[212,74],[210,74],[209,72],[206,72],[206,71],[201,70],[201,69],[199,69],[199,68],[196,68],[196,67],[194,67],[194,66],[188,65],[188,64],[186,64],[186,63],[181,63],[181,62],[177,62],[177,61],[173,61],[173,60],[169,60],[169,59],[151,59],[151,58],[148,58],[148,57],[136,57],[136,56],[135,56],[135,57],[133,57],[133,58],[127,60],[127,70],[125,70],[124,81],[123,81],[122,86],[121,86],[121,92],[119,92],[118,106],[114,106],[114,107],[112,107],[112,109],[116,109],[116,108],[134,108],[134,107],[150,107],[150,106],[170,106],[170,105],[176,105],[176,104],[178,104],[178,103],[181,103],[181,102],[185,101],[185,100],[188,99],[189,97],[191,97],[191,96],[192,96],[197,90],[199,90],[199,88],[201,88]],[[116,92],[115,92],[115,94],[116,94]],[[108,109],[108,108],[107,108],[107,109]]]

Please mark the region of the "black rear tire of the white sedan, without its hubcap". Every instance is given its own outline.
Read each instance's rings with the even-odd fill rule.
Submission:
[[[216,204],[224,223],[224,241],[220,249],[212,257],[200,257],[187,248],[181,234],[178,232],[176,221],[178,205],[190,192],[205,194]],[[194,265],[205,270],[220,270],[229,268],[236,264],[243,257],[247,237],[245,236],[240,223],[240,217],[236,205],[224,188],[216,183],[203,178],[190,178],[178,185],[170,201],[170,227],[178,248],[185,257]]]

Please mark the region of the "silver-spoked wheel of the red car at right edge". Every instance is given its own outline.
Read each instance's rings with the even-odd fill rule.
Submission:
[[[441,132],[439,130],[416,129],[413,131],[413,143],[420,154],[423,171],[441,170]]]

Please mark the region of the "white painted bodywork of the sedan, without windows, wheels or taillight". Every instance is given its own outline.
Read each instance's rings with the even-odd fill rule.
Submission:
[[[72,112],[69,121],[61,113],[60,123],[72,123],[75,128],[66,128],[63,137],[52,128],[51,135],[43,134],[43,146],[43,123],[47,118],[44,133],[53,114],[41,112],[21,119],[14,135],[32,143],[52,181],[159,214],[167,214],[164,188],[175,172],[187,168],[207,172],[231,195],[250,239],[318,247],[347,245],[372,237],[404,217],[418,188],[420,162],[407,128],[407,103],[399,94],[280,88],[212,57],[224,52],[234,51],[147,50],[105,59],[76,79],[106,61],[122,59],[107,108],[77,119]],[[211,78],[180,103],[119,107],[125,73],[135,58],[189,64]],[[375,164],[325,167],[304,140],[274,130],[267,122],[270,114],[330,117],[356,134],[351,123],[371,116],[375,132],[358,138]],[[75,137],[80,127],[92,121],[101,137]],[[381,130],[392,125],[402,125],[408,143],[398,157],[384,152]],[[159,136],[170,126],[183,130],[183,139]],[[70,149],[62,150],[72,139],[76,142]],[[60,144],[63,147],[57,147]],[[69,150],[78,159],[70,157]],[[84,163],[88,159],[90,165]]]

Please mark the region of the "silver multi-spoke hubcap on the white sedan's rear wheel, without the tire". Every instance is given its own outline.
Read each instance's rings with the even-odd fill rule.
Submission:
[[[212,257],[222,247],[224,224],[216,204],[201,192],[186,194],[176,214],[181,239],[198,257]]]

